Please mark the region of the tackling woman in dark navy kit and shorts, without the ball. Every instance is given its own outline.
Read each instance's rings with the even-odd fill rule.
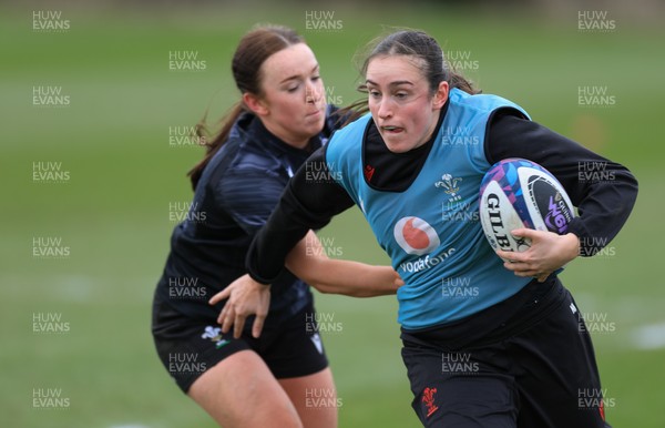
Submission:
[[[337,427],[337,408],[313,410],[307,391],[335,385],[306,283],[325,293],[393,294],[389,266],[328,259],[310,233],[290,251],[257,320],[260,338],[219,333],[222,304],[207,299],[245,274],[254,234],[277,204],[293,172],[338,128],[326,105],[317,60],[293,30],[247,33],[233,58],[242,101],[190,173],[195,195],[171,237],[153,304],[157,354],[178,387],[224,427]],[[297,277],[296,277],[297,276]],[[258,335],[256,335],[258,336]]]

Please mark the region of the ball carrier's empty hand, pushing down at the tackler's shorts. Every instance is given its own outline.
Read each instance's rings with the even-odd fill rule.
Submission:
[[[270,306],[270,286],[257,283],[245,274],[215,294],[208,303],[215,305],[226,298],[228,300],[217,317],[222,333],[228,333],[233,326],[233,337],[241,337],[247,317],[256,315],[252,325],[252,336],[260,336]]]

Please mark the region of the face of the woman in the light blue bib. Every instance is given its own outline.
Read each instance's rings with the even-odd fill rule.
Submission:
[[[377,57],[367,67],[369,111],[388,150],[405,153],[424,144],[448,100],[448,82],[432,95],[418,58]]]

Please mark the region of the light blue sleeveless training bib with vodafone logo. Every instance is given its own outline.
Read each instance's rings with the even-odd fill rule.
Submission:
[[[452,89],[428,159],[403,192],[378,191],[365,180],[362,139],[370,114],[337,131],[328,143],[331,176],[360,207],[405,281],[397,297],[398,322],[406,329],[475,314],[531,281],[503,267],[484,237],[478,212],[480,182],[491,166],[483,149],[488,121],[503,108],[528,116],[500,96]]]

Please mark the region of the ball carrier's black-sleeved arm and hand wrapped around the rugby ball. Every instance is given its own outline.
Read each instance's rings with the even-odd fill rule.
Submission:
[[[637,181],[618,163],[535,122],[497,114],[489,125],[485,157],[493,164],[523,157],[550,171],[566,190],[579,216],[566,235],[518,230],[515,236],[532,240],[524,253],[498,252],[507,268],[519,276],[546,276],[577,255],[592,256],[605,247],[627,221],[637,197]]]

